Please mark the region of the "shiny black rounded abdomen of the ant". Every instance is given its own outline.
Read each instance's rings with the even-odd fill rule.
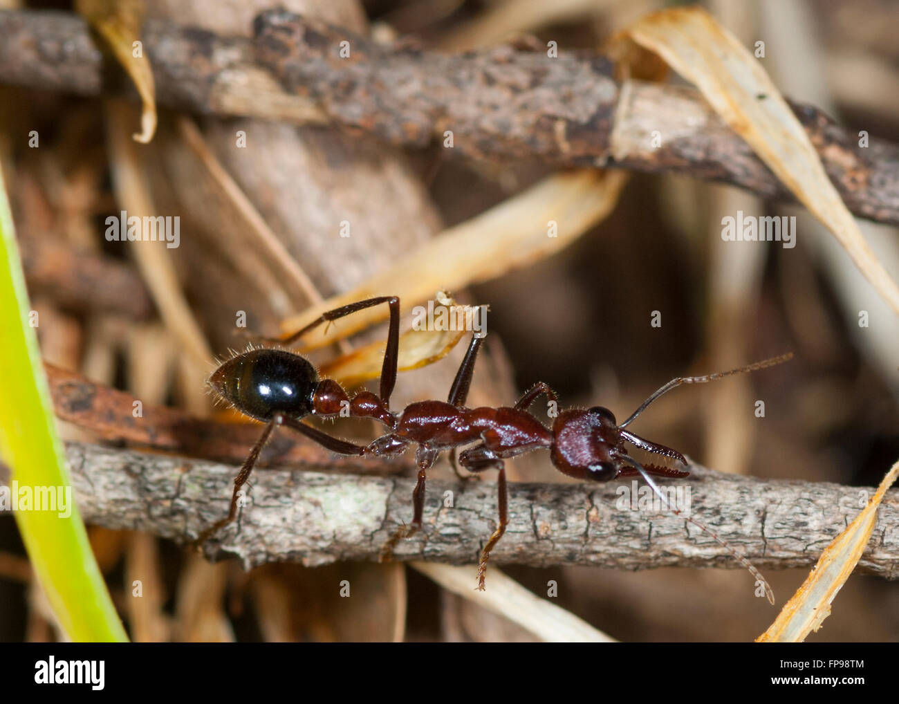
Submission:
[[[276,413],[300,418],[312,413],[318,374],[304,357],[284,350],[257,349],[226,361],[209,386],[242,414],[260,421]]]

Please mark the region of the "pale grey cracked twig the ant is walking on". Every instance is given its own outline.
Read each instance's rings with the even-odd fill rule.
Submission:
[[[233,466],[76,442],[68,443],[67,451],[86,521],[187,542],[227,513]],[[691,515],[761,569],[814,565],[823,547],[858,514],[863,493],[873,492],[760,481],[695,465],[690,471],[691,477],[677,484],[690,488]],[[397,525],[411,519],[413,486],[405,477],[258,472],[238,522],[210,540],[206,550],[210,556],[238,557],[247,567],[286,560],[307,566],[377,560]],[[618,508],[619,486],[632,485],[510,484],[510,522],[491,563],[738,566],[713,539],[671,512]],[[445,505],[447,492],[451,507]],[[495,527],[494,483],[429,481],[423,519],[423,530],[396,546],[395,559],[473,565]],[[899,578],[899,491],[889,492],[881,504],[859,569]],[[475,584],[472,567],[473,589]]]

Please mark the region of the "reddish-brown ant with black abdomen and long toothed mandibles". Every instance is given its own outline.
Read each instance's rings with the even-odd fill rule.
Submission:
[[[453,468],[457,470],[455,452],[458,448],[471,445],[458,454],[458,463],[469,472],[478,473],[486,469],[498,470],[497,490],[499,494],[499,521],[493,535],[481,552],[477,566],[477,588],[485,588],[485,572],[490,552],[503,537],[508,523],[508,498],[504,459],[521,455],[531,450],[549,450],[553,465],[568,477],[582,481],[608,482],[619,477],[644,478],[663,503],[663,506],[681,514],[672,507],[653,477],[681,478],[690,473],[681,468],[646,464],[645,466],[628,454],[626,443],[663,458],[675,460],[683,467],[687,460],[677,450],[651,442],[627,430],[663,394],[683,384],[701,384],[731,374],[761,370],[788,361],[792,353],[783,354],[769,360],[759,361],[738,369],[717,372],[700,377],[672,379],[648,397],[624,423],[617,423],[614,414],[601,406],[592,408],[570,408],[559,413],[551,428],[530,414],[530,405],[541,395],[557,404],[556,394],[547,384],[539,382],[531,387],[518,402],[511,406],[484,406],[468,408],[465,405],[468,388],[478,349],[484,337],[473,335],[467,352],[459,366],[456,378],[449,389],[446,402],[429,400],[407,405],[400,413],[390,410],[390,394],[396,383],[397,356],[399,351],[399,299],[396,296],[382,296],[360,300],[347,306],[334,308],[319,316],[309,325],[288,337],[266,340],[289,347],[318,325],[323,325],[343,316],[349,316],[363,308],[387,304],[390,322],[387,332],[387,347],[380,376],[380,392],[376,395],[362,390],[350,397],[333,379],[319,379],[311,362],[287,349],[259,347],[237,354],[222,363],[209,378],[214,392],[242,414],[265,423],[262,435],[250,450],[244,465],[234,480],[234,495],[231,498],[227,517],[214,523],[200,534],[198,543],[203,543],[213,533],[236,518],[239,493],[259,459],[263,446],[271,432],[279,425],[301,432],[327,450],[366,457],[394,457],[403,454],[412,443],[418,477],[413,491],[413,519],[409,526],[402,526],[387,541],[381,558],[392,555],[393,548],[401,539],[412,536],[422,527],[424,510],[425,474],[443,450],[450,450]],[[373,418],[387,426],[388,432],[368,445],[334,438],[319,431],[301,419],[307,415],[335,417],[341,414],[353,418]],[[774,594],[761,573],[744,557],[739,555],[724,539],[690,516],[682,515],[699,529],[707,532],[724,547],[752,576],[764,585],[769,602],[774,603]]]

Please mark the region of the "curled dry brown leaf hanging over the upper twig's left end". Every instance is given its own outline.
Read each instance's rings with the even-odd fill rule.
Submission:
[[[144,55],[140,25],[144,19],[141,0],[76,0],[76,10],[109,45],[112,54],[138,89],[143,111],[140,132],[132,135],[147,144],[156,133],[156,89],[153,68]]]

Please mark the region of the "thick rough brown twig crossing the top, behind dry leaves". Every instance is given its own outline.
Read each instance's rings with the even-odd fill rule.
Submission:
[[[548,59],[511,46],[467,54],[384,48],[277,12],[263,14],[256,29],[254,42],[146,22],[158,102],[205,114],[338,124],[410,146],[442,141],[451,129],[452,151],[463,156],[680,171],[793,200],[697,91],[621,85],[602,57],[562,52]],[[0,83],[86,95],[113,90],[104,85],[102,56],[85,22],[74,15],[0,12],[0,36]],[[351,41],[352,61],[332,51],[341,40]],[[794,110],[850,211],[899,224],[899,148],[876,138],[859,148],[859,136],[822,111]],[[654,129],[663,134],[662,147],[653,147]]]

